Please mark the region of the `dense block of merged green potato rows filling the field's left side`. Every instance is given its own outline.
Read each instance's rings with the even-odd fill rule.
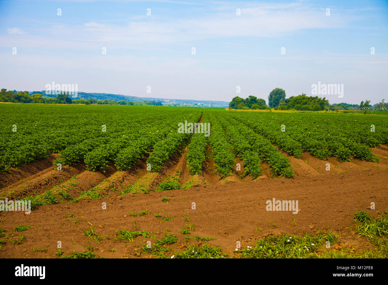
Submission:
[[[2,104],[0,171],[54,153],[59,153],[62,158],[58,163],[86,160],[87,168],[94,170],[115,162],[118,168],[124,169],[141,158],[145,150],[152,150],[155,140],[164,138],[172,128],[176,129],[169,119],[184,118],[192,110],[180,107]],[[165,123],[170,124],[168,131],[159,135]],[[102,125],[106,125],[105,132]],[[149,133],[153,127],[155,136]],[[137,140],[135,136],[141,139]]]

